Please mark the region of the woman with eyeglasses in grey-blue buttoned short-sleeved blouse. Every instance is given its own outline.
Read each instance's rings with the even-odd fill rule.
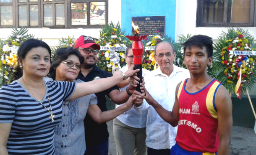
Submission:
[[[84,57],[73,48],[59,48],[55,51],[49,77],[56,81],[84,82],[77,79]],[[97,123],[107,122],[132,107],[132,98],[125,105],[102,112],[97,106],[95,94],[63,102],[63,117],[55,128],[56,155],[84,155],[86,150],[84,117],[86,112]],[[87,111],[88,109],[88,111]],[[64,127],[63,127],[64,125]]]

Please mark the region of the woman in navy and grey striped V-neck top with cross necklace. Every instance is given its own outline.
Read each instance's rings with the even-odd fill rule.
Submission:
[[[108,89],[137,72],[129,70],[118,76],[82,83],[44,81],[50,69],[50,55],[50,47],[37,39],[24,41],[18,49],[16,80],[0,89],[1,155],[53,155],[55,127],[63,116],[63,101]],[[68,64],[74,70],[80,66],[80,61],[64,62],[61,64]],[[76,72],[70,71],[67,76],[75,75]],[[136,97],[130,101],[134,99]]]

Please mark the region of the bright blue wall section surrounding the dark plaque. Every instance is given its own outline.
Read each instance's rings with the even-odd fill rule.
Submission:
[[[131,17],[165,15],[165,34],[175,38],[176,0],[122,0],[121,28],[131,34]]]

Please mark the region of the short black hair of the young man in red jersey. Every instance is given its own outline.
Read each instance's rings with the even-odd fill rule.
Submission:
[[[183,45],[183,55],[185,56],[185,51],[187,48],[191,48],[191,46],[198,46],[200,48],[205,47],[207,51],[207,57],[212,57],[213,54],[213,46],[212,46],[212,38],[204,35],[195,35],[185,41]]]

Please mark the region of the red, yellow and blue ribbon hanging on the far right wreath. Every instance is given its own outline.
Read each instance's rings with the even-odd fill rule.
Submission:
[[[238,64],[239,71],[238,71],[238,82],[235,85],[235,94],[237,98],[241,99],[241,80],[242,80],[242,67],[246,63],[246,60],[248,59],[247,56],[239,55],[236,60],[235,64]]]

